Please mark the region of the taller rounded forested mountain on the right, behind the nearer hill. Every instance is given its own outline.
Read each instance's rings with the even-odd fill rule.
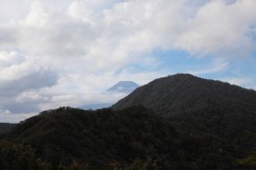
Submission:
[[[206,144],[220,141],[219,150],[230,151],[234,157],[246,157],[256,149],[256,92],[253,90],[178,74],[141,86],[112,107],[131,105],[154,110],[181,133],[204,136]]]

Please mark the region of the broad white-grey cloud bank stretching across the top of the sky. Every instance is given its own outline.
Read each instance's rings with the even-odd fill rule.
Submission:
[[[142,62],[155,48],[229,56],[254,48],[252,0],[58,2],[32,2],[19,21],[0,26],[0,47],[15,46],[54,67],[71,61],[91,73]]]

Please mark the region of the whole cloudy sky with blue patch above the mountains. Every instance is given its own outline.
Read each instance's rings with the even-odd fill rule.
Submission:
[[[189,73],[256,89],[255,0],[0,0],[0,122]]]

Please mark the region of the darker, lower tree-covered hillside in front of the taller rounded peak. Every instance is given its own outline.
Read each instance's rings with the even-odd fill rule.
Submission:
[[[144,106],[118,111],[61,107],[27,119],[2,139],[30,145],[36,151],[31,159],[42,159],[39,165],[48,169],[253,169],[237,161],[246,158],[243,145],[194,127],[179,129],[180,121]]]

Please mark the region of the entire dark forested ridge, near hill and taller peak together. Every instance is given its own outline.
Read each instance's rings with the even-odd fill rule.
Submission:
[[[251,170],[256,92],[172,75],[139,87],[112,108],[44,111],[1,139],[0,155],[18,156],[27,147],[24,162],[34,169]],[[8,156],[0,157],[1,169],[24,167],[7,166],[14,165]]]

